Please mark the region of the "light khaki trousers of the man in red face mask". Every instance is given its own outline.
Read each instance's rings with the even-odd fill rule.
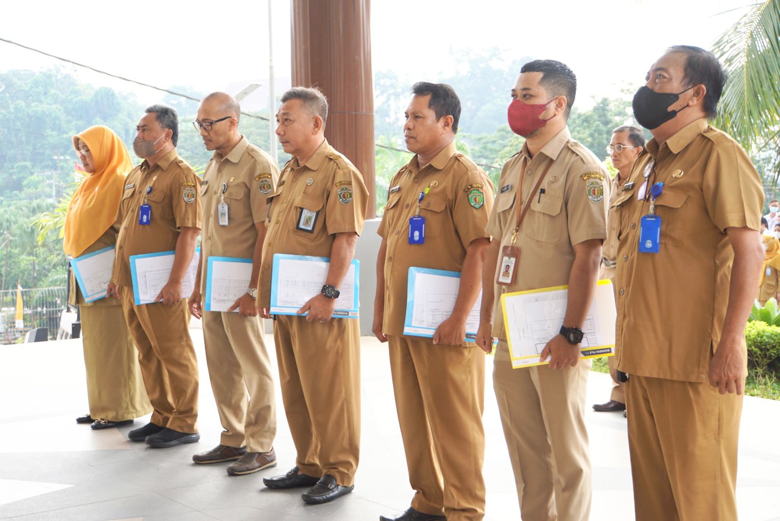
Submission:
[[[522,519],[587,521],[593,491],[585,393],[590,361],[512,369],[498,340],[493,386],[515,473]]]

